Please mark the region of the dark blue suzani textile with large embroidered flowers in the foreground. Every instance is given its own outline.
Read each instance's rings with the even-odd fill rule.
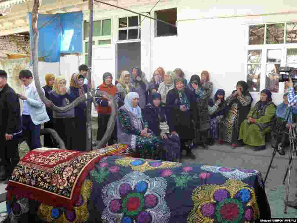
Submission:
[[[257,170],[107,156],[83,183],[72,209],[23,198],[8,204],[20,207],[13,213],[43,222],[252,223],[271,218]]]

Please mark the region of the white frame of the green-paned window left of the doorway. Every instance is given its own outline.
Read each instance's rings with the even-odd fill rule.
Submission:
[[[96,37],[94,37],[93,36],[93,41],[95,41],[95,44],[93,45],[92,44],[92,50],[94,49],[94,47],[96,47],[96,48],[105,48],[105,47],[107,47],[107,46],[111,46],[112,44],[113,44],[113,19],[112,19],[112,17],[106,17],[106,18],[100,18],[100,19],[96,19],[96,20],[93,20],[93,22],[95,22],[95,21],[101,21],[101,25],[100,25],[100,34],[102,34],[102,21],[103,20],[108,20],[108,19],[110,19],[110,35],[105,35],[105,36],[96,36]],[[84,20],[83,21],[83,35],[82,35],[82,38],[83,38],[83,61],[84,61],[84,64],[87,64],[86,63],[86,56],[87,55],[89,55],[89,51],[88,52],[86,52],[86,43],[88,42],[89,43],[89,37],[86,37],[86,39],[84,39],[84,35],[85,35],[85,29],[84,29],[84,25],[85,25],[85,22],[90,22],[89,21],[89,19],[88,20]],[[109,44],[101,44],[101,45],[99,45],[99,41],[100,40],[110,40],[110,43]],[[90,44],[89,44],[89,46],[90,46]]]

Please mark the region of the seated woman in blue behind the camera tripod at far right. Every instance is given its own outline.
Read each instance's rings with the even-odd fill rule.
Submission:
[[[279,118],[282,122],[287,122],[286,129],[283,131],[280,136],[280,142],[278,145],[277,152],[279,155],[286,155],[284,147],[289,141],[288,132],[289,128],[292,126],[292,112],[293,114],[297,114],[297,107],[292,107],[292,110],[288,107],[288,93],[284,94],[284,101],[277,106],[277,111],[275,112],[275,116]]]

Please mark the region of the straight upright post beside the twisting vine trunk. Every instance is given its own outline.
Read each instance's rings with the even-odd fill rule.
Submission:
[[[90,32],[89,32],[89,58],[88,58],[88,85],[91,85],[91,69],[92,69],[92,51],[93,51],[93,0],[89,0],[89,10],[90,10]],[[95,86],[93,86],[95,87]],[[89,93],[89,88],[88,88]],[[92,103],[88,101],[87,107],[87,123],[86,123],[86,151],[92,150],[92,122],[91,122],[91,113],[92,113]],[[99,126],[98,126],[99,127]]]

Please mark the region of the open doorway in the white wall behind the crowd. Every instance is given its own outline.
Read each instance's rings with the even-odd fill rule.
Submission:
[[[140,42],[117,44],[117,78],[121,70],[131,72],[132,67],[140,67]]]

